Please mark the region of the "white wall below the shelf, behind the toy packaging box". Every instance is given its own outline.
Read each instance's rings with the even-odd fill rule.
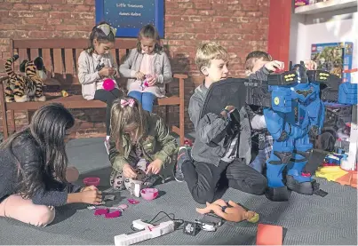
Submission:
[[[358,60],[357,8],[311,15],[292,13],[290,23],[290,60],[294,63],[311,57],[311,44],[354,42],[353,68]]]

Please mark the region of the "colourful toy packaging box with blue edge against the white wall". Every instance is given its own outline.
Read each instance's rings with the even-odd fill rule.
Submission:
[[[343,70],[352,69],[352,42],[312,44],[311,60],[317,62],[318,69],[338,75],[342,83],[351,82],[351,75],[343,73]]]

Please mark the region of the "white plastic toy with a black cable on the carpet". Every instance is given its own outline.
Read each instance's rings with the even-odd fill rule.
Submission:
[[[174,221],[162,222],[158,226],[147,224],[140,219],[133,221],[133,227],[141,230],[134,234],[120,234],[115,236],[115,246],[131,245],[137,242],[146,241],[163,234],[169,234],[174,231]]]

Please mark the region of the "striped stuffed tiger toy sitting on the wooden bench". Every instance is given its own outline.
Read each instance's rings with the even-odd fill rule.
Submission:
[[[37,57],[35,60],[22,61],[20,72],[25,75],[18,75],[12,69],[12,63],[18,58],[19,55],[14,55],[5,63],[5,71],[9,76],[5,85],[6,102],[45,101],[43,80],[46,79],[46,69],[43,59]]]

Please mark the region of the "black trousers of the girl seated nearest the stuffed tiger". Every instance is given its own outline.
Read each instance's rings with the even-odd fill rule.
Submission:
[[[106,109],[107,136],[110,135],[111,108],[113,105],[113,101],[121,97],[123,97],[123,92],[119,91],[117,88],[113,89],[112,91],[99,89],[94,93],[94,99],[101,100],[107,103],[107,109]]]

